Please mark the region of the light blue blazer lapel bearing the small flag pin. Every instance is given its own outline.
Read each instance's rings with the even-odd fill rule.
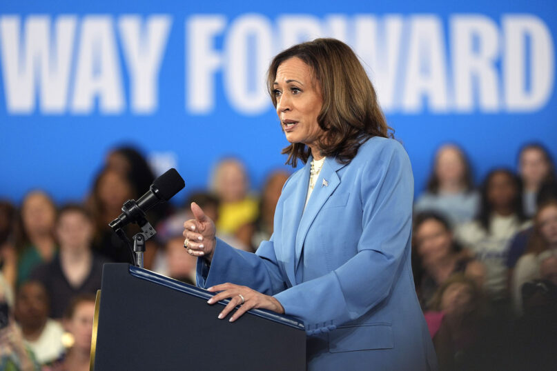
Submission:
[[[310,161],[311,159],[308,160],[308,163],[310,163]],[[331,196],[331,194],[335,191],[335,189],[340,184],[340,178],[337,175],[337,170],[343,167],[344,164],[338,163],[335,159],[331,157],[327,157],[325,159],[325,162],[323,163],[323,168],[321,169],[319,177],[317,178],[317,182],[315,183],[315,188],[313,188],[313,192],[309,197],[308,204],[306,205],[306,210],[304,210],[302,214],[302,219],[300,220],[300,225],[297,229],[296,241],[295,241],[295,246],[296,246],[295,248],[296,259],[294,265],[295,271],[298,269],[298,264],[300,263],[300,257],[302,255],[302,248],[304,246],[304,241],[306,239],[308,230],[311,227],[311,223],[313,223],[313,220],[315,219],[315,217],[317,217],[317,214],[321,210],[325,201],[329,199],[329,196]],[[304,196],[302,197],[302,199],[298,200],[302,210],[304,209],[304,203],[306,201],[305,196],[307,195],[307,188],[309,183],[309,169],[306,174],[306,177],[307,177],[306,181],[299,182],[299,183],[303,183],[305,187],[305,192],[302,192],[303,191],[302,189],[298,190],[299,191],[298,194],[303,194]]]

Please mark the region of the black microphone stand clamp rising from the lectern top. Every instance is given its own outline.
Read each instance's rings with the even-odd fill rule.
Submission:
[[[131,241],[130,239],[128,239],[128,236],[126,236],[126,232],[124,232],[123,228],[118,228],[115,230],[115,232],[121,239],[121,241],[123,241],[128,246],[128,248],[130,248],[130,250],[133,250],[133,252],[135,252],[135,265],[139,268],[143,268],[145,242],[151,237],[155,236],[155,234],[157,234],[157,231],[155,230],[155,228],[153,228],[153,225],[150,225],[150,223],[147,221],[145,213],[139,208],[134,200],[126,201],[124,203],[124,206],[122,206],[122,212],[130,217],[130,220],[133,220],[134,223],[139,225],[139,228],[141,228],[141,232],[138,232],[133,236],[133,248],[131,245]],[[110,223],[110,227],[113,227],[113,223],[114,221]]]

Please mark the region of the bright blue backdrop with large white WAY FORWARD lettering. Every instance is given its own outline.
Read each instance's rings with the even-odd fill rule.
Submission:
[[[135,143],[186,191],[236,155],[253,188],[287,145],[266,95],[273,54],[320,36],[349,43],[413,163],[453,141],[476,179],[556,152],[555,1],[4,1],[0,196],[82,199],[110,148]]]

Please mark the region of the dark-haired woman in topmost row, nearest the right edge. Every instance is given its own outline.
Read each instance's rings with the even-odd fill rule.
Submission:
[[[555,165],[549,151],[540,143],[529,143],[520,149],[518,173],[522,179],[522,202],[527,217],[536,214],[536,194],[543,183],[556,181]]]

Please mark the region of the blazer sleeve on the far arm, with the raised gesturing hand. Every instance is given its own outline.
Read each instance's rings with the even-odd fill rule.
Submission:
[[[263,241],[255,254],[235,249],[217,239],[211,265],[219,269],[211,269],[206,259],[197,259],[198,287],[209,288],[230,282],[248,286],[267,295],[286,288],[275,257],[273,237],[269,241]]]

